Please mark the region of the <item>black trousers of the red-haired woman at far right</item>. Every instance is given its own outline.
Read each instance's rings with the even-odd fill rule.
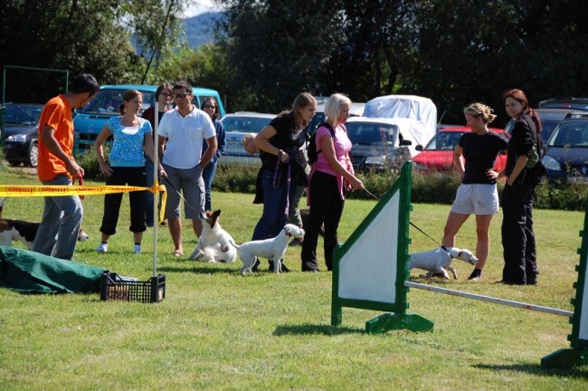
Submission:
[[[513,284],[535,283],[537,254],[533,232],[535,186],[515,183],[502,192],[502,281]]]

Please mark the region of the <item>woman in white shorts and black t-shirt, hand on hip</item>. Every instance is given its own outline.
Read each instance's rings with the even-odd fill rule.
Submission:
[[[479,281],[490,250],[489,227],[492,215],[498,213],[498,189],[492,171],[496,157],[506,151],[507,140],[488,130],[496,118],[492,109],[482,103],[472,103],[463,112],[471,131],[464,133],[453,152],[453,167],[461,177],[455,201],[443,230],[441,243],[455,247],[455,236],[469,215],[476,215],[476,257],[479,262],[469,274],[469,281]]]

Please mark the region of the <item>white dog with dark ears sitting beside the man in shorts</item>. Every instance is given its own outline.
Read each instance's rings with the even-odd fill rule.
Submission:
[[[202,259],[204,262],[235,262],[237,250],[231,245],[235,241],[219,224],[221,211],[205,212],[200,216],[203,229],[198,245],[188,256],[190,260]]]

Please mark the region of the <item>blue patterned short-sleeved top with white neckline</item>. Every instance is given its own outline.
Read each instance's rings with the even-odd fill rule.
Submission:
[[[137,127],[126,127],[121,123],[122,117],[111,117],[106,126],[112,132],[114,142],[109,153],[110,167],[143,167],[143,143],[145,135],[151,133],[151,124],[147,119],[138,119]]]

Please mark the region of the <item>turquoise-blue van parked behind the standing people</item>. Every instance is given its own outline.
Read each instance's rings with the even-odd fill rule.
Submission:
[[[119,84],[100,87],[98,95],[90,100],[88,106],[78,110],[73,118],[74,154],[78,155],[92,148],[106,121],[110,117],[120,115],[119,105],[127,90],[138,90],[143,93],[143,106],[139,115],[155,104],[156,85]],[[204,100],[213,97],[218,102],[220,115],[224,115],[223,101],[218,91],[199,87],[193,87],[192,90],[196,107],[200,108]]]

